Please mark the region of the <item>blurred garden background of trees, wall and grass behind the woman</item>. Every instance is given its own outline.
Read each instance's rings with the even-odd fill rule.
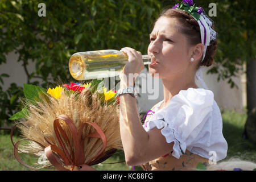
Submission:
[[[132,47],[146,54],[148,35],[160,11],[178,2],[0,0],[0,127],[13,126],[9,118],[20,110],[23,83],[46,88],[59,82],[77,82],[68,69],[73,53]],[[218,32],[215,63],[203,68],[203,75],[221,109],[223,133],[229,144],[226,159],[238,156],[256,162],[256,3],[194,2],[214,20]],[[142,73],[148,73],[148,66]],[[105,80],[110,82],[110,78]],[[117,85],[118,79],[114,80]],[[159,89],[153,91],[158,92],[157,99],[148,100],[154,94],[150,90],[140,94],[140,114],[163,100],[160,80],[158,84],[154,87]],[[0,131],[0,170],[27,170],[13,159],[11,147],[9,131]],[[123,159],[123,152],[118,151],[108,160]],[[131,170],[126,164],[98,164],[96,168]]]

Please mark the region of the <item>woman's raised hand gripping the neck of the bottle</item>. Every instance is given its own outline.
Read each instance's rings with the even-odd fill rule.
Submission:
[[[130,47],[124,47],[120,51],[128,56],[128,63],[119,75],[121,85],[124,87],[133,86],[136,77],[144,68],[141,52]]]

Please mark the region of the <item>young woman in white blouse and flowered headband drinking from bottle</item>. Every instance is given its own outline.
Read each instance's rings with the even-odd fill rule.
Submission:
[[[195,169],[198,162],[224,159],[228,149],[213,93],[195,83],[200,67],[213,63],[217,49],[213,22],[201,8],[193,9],[198,15],[187,13],[191,1],[180,5],[164,10],[150,34],[149,72],[162,79],[164,99],[152,107],[144,125],[133,94],[135,78],[129,78],[144,68],[141,52],[121,49],[129,56],[119,76],[123,150],[128,165],[145,170]]]

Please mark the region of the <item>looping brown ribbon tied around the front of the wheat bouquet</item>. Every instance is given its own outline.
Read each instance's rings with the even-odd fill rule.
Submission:
[[[72,139],[73,139],[73,146],[71,145],[71,141],[68,138],[68,135],[65,133],[63,128],[60,125],[60,120],[64,121],[65,124],[68,126],[69,131],[71,132]],[[26,123],[26,122],[20,122],[20,123]],[[17,123],[16,125],[18,125]],[[19,142],[22,140],[31,140],[31,139],[21,139],[18,142],[14,144],[13,142],[13,131],[14,125],[11,130],[11,142],[14,146],[14,156],[16,160],[23,166],[26,166],[31,169],[36,169],[35,167],[28,166],[26,163],[24,163],[18,154],[18,145]],[[82,131],[86,125],[91,125],[96,130],[94,133],[88,134],[84,139],[82,139]],[[44,148],[44,152],[46,154],[47,159],[49,162],[51,162],[52,166],[54,166],[56,169],[60,171],[69,171],[69,170],[95,170],[94,168],[90,167],[94,164],[98,164],[106,159],[108,159],[111,155],[114,154],[116,151],[115,148],[110,149],[105,152],[106,145],[107,145],[107,138],[104,134],[104,131],[94,122],[85,122],[82,123],[79,131],[77,131],[77,127],[75,126],[75,123],[72,121],[71,118],[69,118],[67,115],[59,115],[54,121],[53,121],[53,129],[57,138],[57,142],[60,144],[60,147],[56,146],[55,144],[52,144],[49,142],[46,138],[46,142],[49,144],[48,146],[43,146],[43,144],[36,142],[35,140],[32,140],[39,144],[42,148]],[[85,162],[85,152],[84,152],[84,142],[85,139],[88,137],[97,137],[102,140],[102,148],[98,154],[94,155],[92,158],[88,160],[88,162]],[[63,141],[65,139],[65,143]],[[69,150],[67,149],[67,147]],[[39,152],[39,151],[38,151]],[[35,152],[31,152],[35,153]],[[26,153],[28,154],[28,153]]]

